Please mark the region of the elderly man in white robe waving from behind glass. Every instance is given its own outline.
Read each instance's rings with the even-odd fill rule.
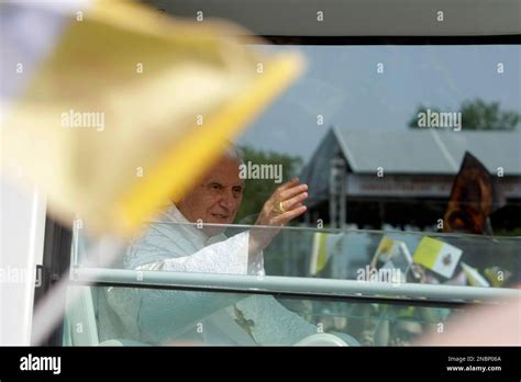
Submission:
[[[241,162],[239,153],[229,149],[189,194],[131,244],[124,267],[264,274],[263,249],[279,229],[253,228],[226,238],[222,226],[211,225],[235,218],[244,188]],[[284,226],[302,215],[307,190],[298,179],[280,186],[255,224]],[[295,345],[318,332],[269,295],[111,289],[107,299],[115,312],[112,323],[124,328],[120,336],[147,344]]]

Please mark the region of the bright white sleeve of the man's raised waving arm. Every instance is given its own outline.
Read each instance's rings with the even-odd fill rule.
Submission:
[[[181,257],[166,258],[136,267],[137,270],[201,272],[222,274],[264,274],[263,254],[248,259],[250,232],[232,236]],[[167,255],[167,248],[164,249]]]

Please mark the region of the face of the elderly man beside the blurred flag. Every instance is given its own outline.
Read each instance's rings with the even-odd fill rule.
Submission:
[[[236,159],[221,159],[185,196],[177,207],[192,223],[232,224],[243,200],[244,181],[239,177]],[[203,226],[208,235],[217,235],[221,227]]]

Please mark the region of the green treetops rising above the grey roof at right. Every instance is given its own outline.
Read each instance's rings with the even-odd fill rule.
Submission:
[[[420,105],[409,121],[409,127],[418,127],[418,114],[426,112],[440,112],[437,108],[425,108]],[[464,101],[459,108],[462,113],[463,130],[479,131],[513,131],[521,121],[521,114],[513,110],[501,110],[499,102],[486,103],[480,99]]]

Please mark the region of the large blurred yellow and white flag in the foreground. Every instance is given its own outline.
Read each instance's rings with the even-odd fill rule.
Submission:
[[[132,234],[299,75],[300,56],[259,55],[246,34],[95,2],[9,111],[2,167],[22,167],[62,221]]]

